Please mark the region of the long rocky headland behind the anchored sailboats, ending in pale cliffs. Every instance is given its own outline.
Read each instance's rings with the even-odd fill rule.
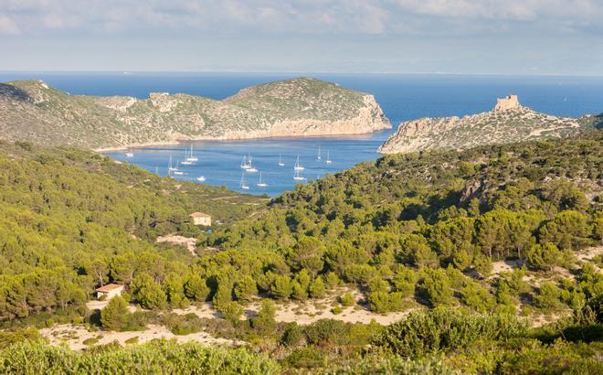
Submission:
[[[0,138],[39,145],[102,149],[390,127],[372,95],[306,78],[250,87],[223,101],[181,93],[145,100],[69,95],[39,80],[0,84]]]

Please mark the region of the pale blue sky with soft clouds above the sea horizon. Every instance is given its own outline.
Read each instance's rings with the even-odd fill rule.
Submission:
[[[0,0],[0,70],[603,76],[603,0]]]

